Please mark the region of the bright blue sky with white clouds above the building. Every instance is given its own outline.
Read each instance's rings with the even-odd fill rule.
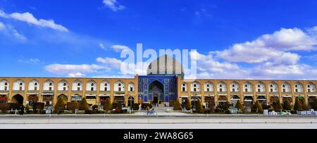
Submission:
[[[316,80],[316,15],[314,0],[0,0],[0,76],[142,75],[120,71],[142,43],[197,49],[197,78]]]

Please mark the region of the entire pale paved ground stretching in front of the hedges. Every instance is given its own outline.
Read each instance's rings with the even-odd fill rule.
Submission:
[[[1,115],[0,128],[105,128],[105,129],[213,129],[213,128],[314,128],[317,116],[201,115],[159,113],[100,115]]]

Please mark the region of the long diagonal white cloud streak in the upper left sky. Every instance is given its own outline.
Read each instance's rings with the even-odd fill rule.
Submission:
[[[49,27],[53,30],[58,30],[61,32],[68,32],[68,29],[66,27],[63,27],[63,25],[58,25],[54,22],[54,20],[44,20],[44,19],[37,19],[32,15],[32,13],[26,12],[26,13],[11,13],[7,14],[4,13],[4,11],[0,10],[0,17],[2,18],[12,18],[15,20],[20,20],[25,23],[29,23],[32,25],[37,25],[39,27]]]

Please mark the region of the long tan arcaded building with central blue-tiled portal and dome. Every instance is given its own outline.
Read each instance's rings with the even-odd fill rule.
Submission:
[[[125,106],[144,102],[173,106],[175,99],[201,99],[208,107],[211,103],[235,104],[238,100],[244,105],[255,101],[294,103],[295,99],[312,103],[317,97],[316,80],[188,80],[183,73],[176,74],[176,70],[183,70],[175,59],[165,56],[163,63],[155,67],[163,68],[163,72],[155,73],[151,63],[147,75],[134,78],[0,77],[0,102],[43,102],[53,106],[58,98],[70,102],[85,97],[92,105],[111,99]],[[169,66],[172,73],[165,68]]]

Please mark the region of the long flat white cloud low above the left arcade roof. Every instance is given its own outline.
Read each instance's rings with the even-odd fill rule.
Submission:
[[[54,73],[56,75],[63,74],[73,74],[74,73],[96,73],[97,70],[101,70],[103,67],[98,65],[62,65],[62,64],[52,64],[45,66],[45,70],[49,73]],[[77,74],[79,75],[79,74]]]

